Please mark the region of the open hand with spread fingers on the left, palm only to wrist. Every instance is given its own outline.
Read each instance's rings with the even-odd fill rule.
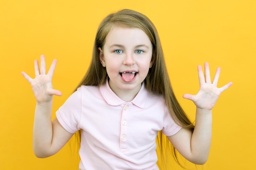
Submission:
[[[38,65],[38,60],[35,60],[35,75],[36,77],[32,79],[27,75],[24,71],[22,71],[22,75],[27,79],[27,81],[31,84],[32,90],[36,97],[36,102],[38,104],[44,104],[47,102],[52,102],[53,95],[61,96],[61,91],[55,90],[52,88],[52,76],[54,73],[54,69],[57,63],[57,60],[53,60],[51,67],[49,68],[48,73],[46,74],[45,68],[45,56],[41,55],[41,64],[40,70]]]

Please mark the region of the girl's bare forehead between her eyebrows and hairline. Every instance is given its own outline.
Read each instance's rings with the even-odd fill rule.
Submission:
[[[142,29],[113,26],[106,37],[105,45],[113,44],[151,46],[151,41]]]

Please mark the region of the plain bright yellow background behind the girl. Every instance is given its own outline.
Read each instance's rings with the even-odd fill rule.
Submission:
[[[234,83],[213,109],[210,156],[198,169],[255,169],[255,0],[0,0],[0,170],[76,169],[68,144],[52,157],[34,156],[35,99],[20,73],[34,77],[41,54],[47,68],[58,60],[53,86],[63,96],[54,97],[54,118],[88,68],[99,23],[124,8],[157,27],[175,94],[191,120],[195,107],[182,95],[198,91],[198,64],[209,62],[212,75],[222,68],[218,86]]]

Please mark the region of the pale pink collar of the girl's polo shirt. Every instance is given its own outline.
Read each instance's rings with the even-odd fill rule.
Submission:
[[[100,86],[101,95],[106,100],[106,102],[112,106],[118,106],[121,104],[126,104],[124,100],[120,99],[110,88],[108,84],[108,79],[106,83]],[[138,106],[139,108],[144,108],[146,99],[148,97],[148,91],[146,90],[144,83],[139,90],[139,93],[135,96],[135,98],[131,101],[132,104]]]

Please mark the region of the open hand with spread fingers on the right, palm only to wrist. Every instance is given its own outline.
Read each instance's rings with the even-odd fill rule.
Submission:
[[[198,108],[212,110],[220,94],[232,85],[232,82],[229,82],[225,86],[218,88],[217,84],[219,76],[220,68],[218,67],[213,82],[211,82],[209,64],[207,62],[204,63],[204,73],[202,71],[202,66],[198,66],[200,89],[196,95],[184,94],[183,98],[193,101]]]

